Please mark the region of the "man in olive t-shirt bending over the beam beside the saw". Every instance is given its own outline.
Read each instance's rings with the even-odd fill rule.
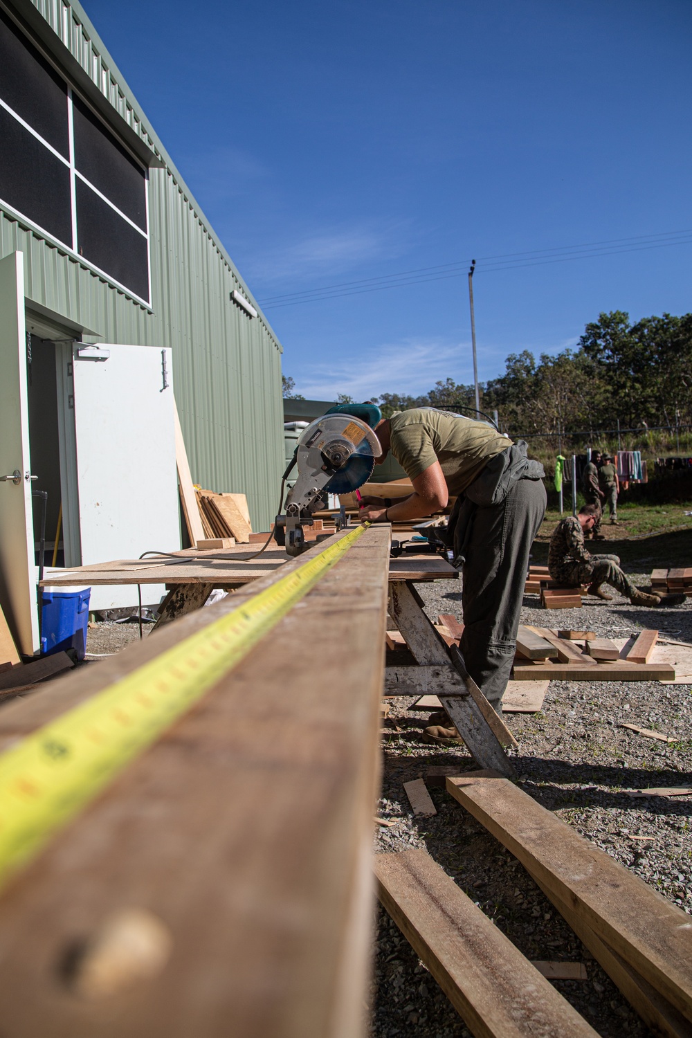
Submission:
[[[343,405],[348,412],[348,405]],[[546,511],[544,469],[493,426],[413,408],[376,427],[413,483],[398,500],[363,497],[371,522],[422,519],[456,502],[446,538],[462,566],[466,668],[498,713],[515,655],[529,551]],[[453,729],[452,729],[453,731]]]

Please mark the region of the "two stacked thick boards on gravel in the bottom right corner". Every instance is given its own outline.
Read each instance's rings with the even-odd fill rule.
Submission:
[[[521,862],[652,1031],[689,1035],[690,917],[511,782],[486,773],[447,777],[446,787]],[[418,927],[404,930],[413,944],[409,929]],[[565,1027],[539,1033],[566,1034]]]

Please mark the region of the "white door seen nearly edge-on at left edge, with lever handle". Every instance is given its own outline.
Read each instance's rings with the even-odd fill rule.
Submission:
[[[0,605],[27,655],[38,650],[30,473],[24,256],[12,252],[0,261]]]

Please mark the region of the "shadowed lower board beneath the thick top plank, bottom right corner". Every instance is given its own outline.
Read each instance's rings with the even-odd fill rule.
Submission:
[[[690,1038],[692,1028],[683,1014],[659,994],[656,988],[652,987],[617,952],[598,937],[566,902],[547,890],[535,876],[532,878],[654,1033],[668,1038]]]

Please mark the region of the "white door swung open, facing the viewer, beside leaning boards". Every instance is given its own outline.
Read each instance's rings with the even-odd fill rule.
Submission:
[[[73,351],[81,562],[178,551],[171,353],[147,346]],[[163,584],[142,586],[158,602]],[[91,609],[137,604],[135,584],[91,589]]]

